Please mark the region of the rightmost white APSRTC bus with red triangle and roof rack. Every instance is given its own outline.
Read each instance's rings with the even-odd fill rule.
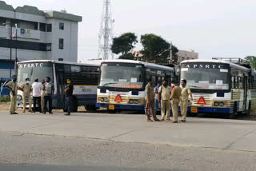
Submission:
[[[187,60],[180,71],[193,94],[188,113],[226,113],[234,118],[256,108],[256,75],[249,62],[240,58]]]

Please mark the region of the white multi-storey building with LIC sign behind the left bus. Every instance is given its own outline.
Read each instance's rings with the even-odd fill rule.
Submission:
[[[52,59],[66,62],[78,61],[78,22],[82,17],[66,11],[42,11],[34,6],[6,5],[0,1],[0,79],[10,77],[18,61]],[[16,38],[10,40],[10,35]],[[10,27],[12,30],[10,30]],[[12,60],[10,63],[10,47]]]

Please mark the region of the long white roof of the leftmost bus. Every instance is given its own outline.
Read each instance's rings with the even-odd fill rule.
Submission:
[[[58,63],[58,64],[70,64],[70,65],[79,65],[79,66],[100,66],[102,63],[102,60],[86,61],[86,63],[61,62],[61,61],[55,61],[55,60],[29,60],[29,61],[18,62],[18,64],[30,63],[30,62],[53,62],[53,63]]]

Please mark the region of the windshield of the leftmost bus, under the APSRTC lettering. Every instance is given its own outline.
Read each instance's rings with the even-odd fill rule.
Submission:
[[[38,81],[41,82],[46,77],[50,77],[53,82],[53,64],[51,62],[18,64],[18,85],[25,83],[26,78],[30,78],[30,82],[34,82],[38,78]]]

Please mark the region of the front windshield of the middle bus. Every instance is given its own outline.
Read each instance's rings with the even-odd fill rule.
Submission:
[[[142,65],[103,63],[99,85],[102,87],[142,89]]]

